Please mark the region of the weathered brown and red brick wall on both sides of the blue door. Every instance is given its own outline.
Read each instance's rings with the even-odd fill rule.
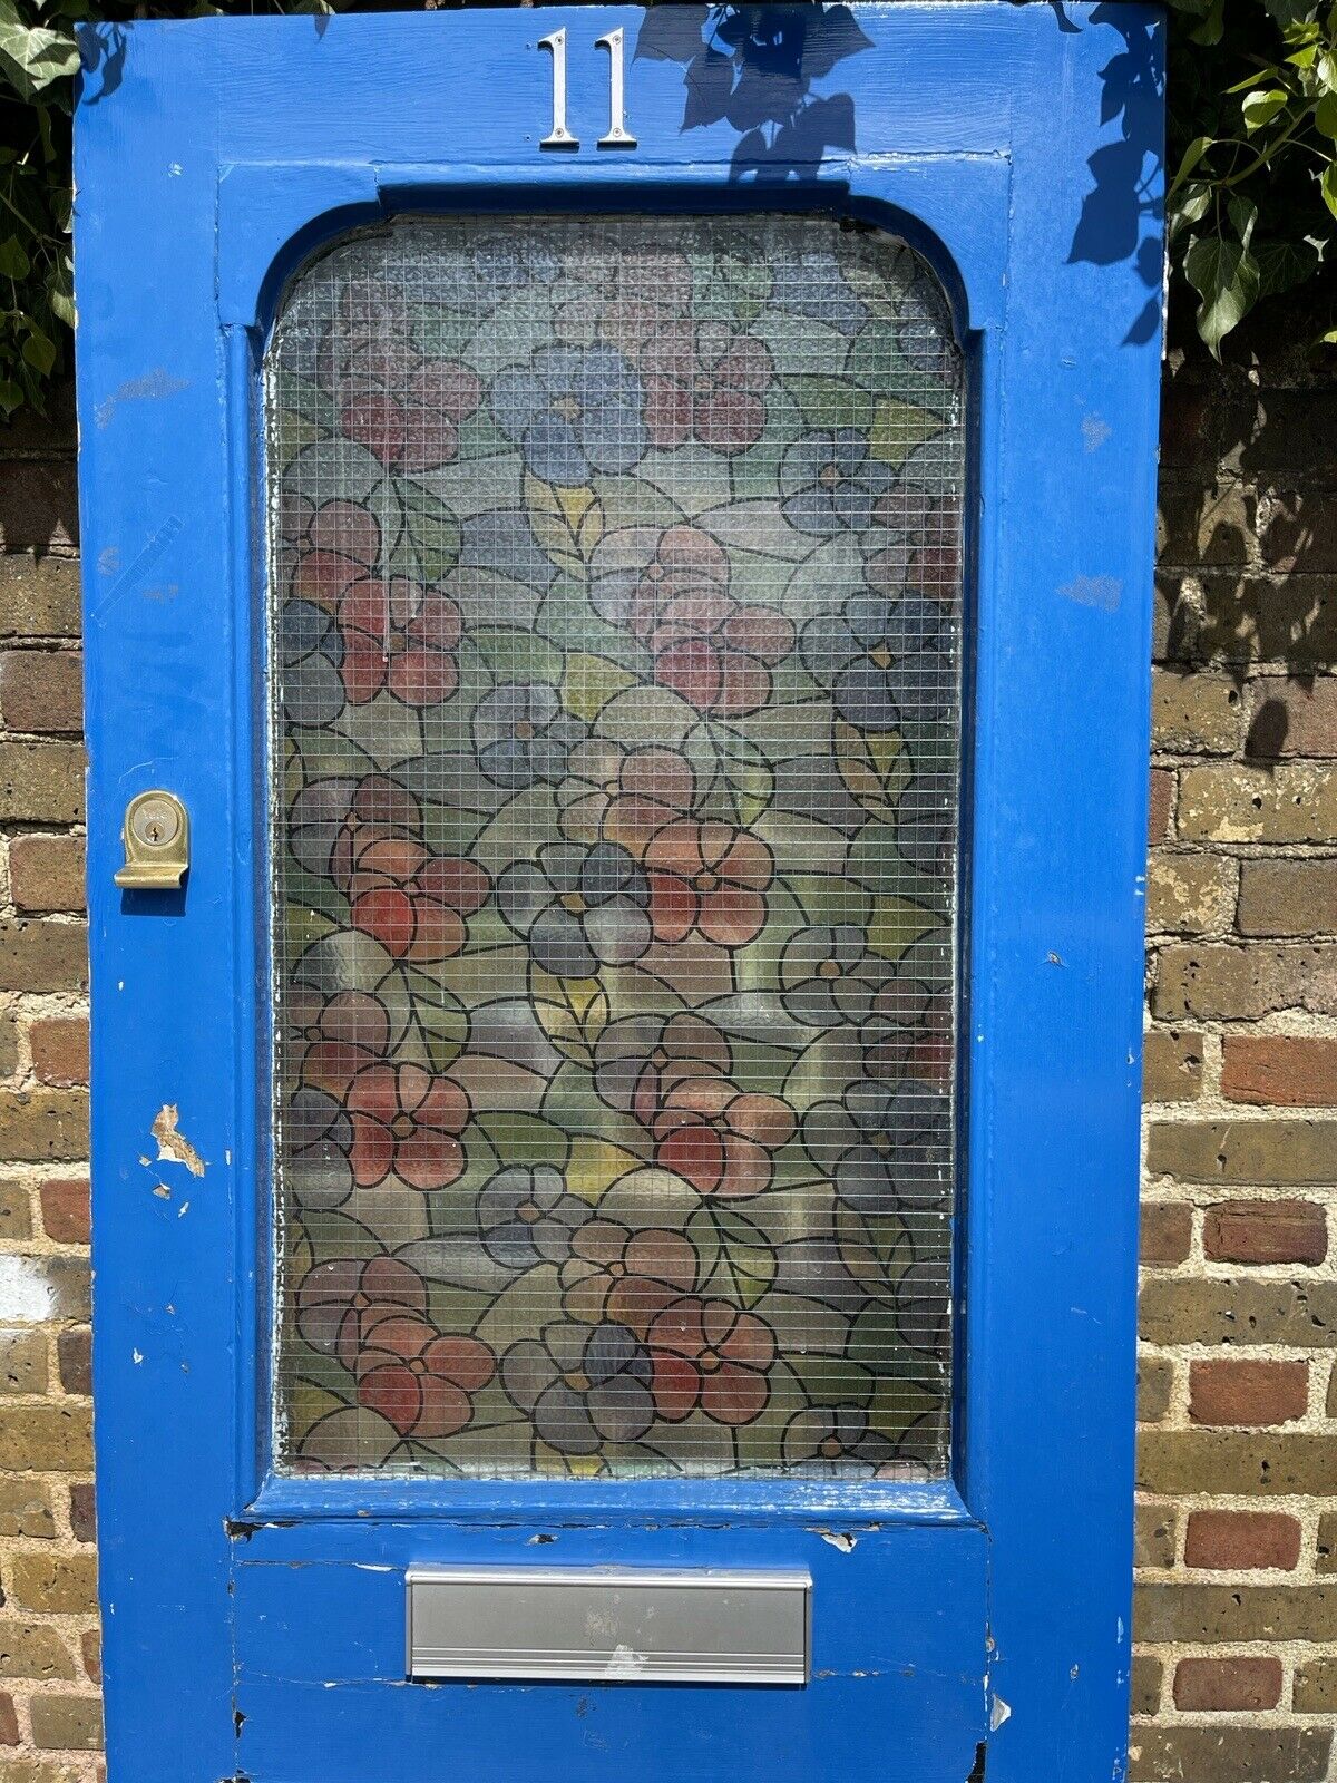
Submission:
[[[98,1765],[73,538],[0,435],[0,1783]],[[1171,362],[1134,1783],[1337,1783],[1335,669],[1337,380]]]

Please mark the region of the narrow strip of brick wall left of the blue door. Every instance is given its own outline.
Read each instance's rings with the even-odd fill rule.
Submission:
[[[0,1779],[100,1774],[68,417],[0,433]]]

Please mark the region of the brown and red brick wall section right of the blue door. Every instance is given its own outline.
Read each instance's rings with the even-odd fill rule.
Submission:
[[[1337,1776],[1335,421],[1298,355],[1171,362],[1134,1779]]]

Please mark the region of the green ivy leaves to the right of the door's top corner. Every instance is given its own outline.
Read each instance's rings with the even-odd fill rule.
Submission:
[[[1169,255],[1219,358],[1257,303],[1332,285],[1337,5],[1169,5]],[[1337,344],[1337,328],[1316,344]]]

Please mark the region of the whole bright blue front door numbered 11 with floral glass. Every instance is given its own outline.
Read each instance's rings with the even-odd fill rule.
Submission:
[[[1111,39],[1153,198],[1136,9],[89,36],[114,1779],[1114,1762]]]

